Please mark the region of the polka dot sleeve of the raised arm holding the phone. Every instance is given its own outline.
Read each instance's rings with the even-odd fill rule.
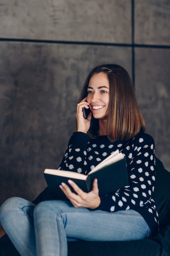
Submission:
[[[84,132],[74,132],[69,140],[65,155],[59,166],[59,170],[75,171],[78,173],[87,173],[88,161],[87,144],[90,137]]]

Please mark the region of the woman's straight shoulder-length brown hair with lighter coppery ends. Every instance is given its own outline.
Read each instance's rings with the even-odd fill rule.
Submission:
[[[129,140],[139,131],[145,131],[145,123],[137,105],[133,84],[128,72],[116,64],[103,64],[93,68],[87,76],[79,102],[87,97],[89,80],[94,74],[103,72],[109,80],[109,111],[107,116],[107,137],[110,141]],[[87,134],[98,136],[99,122],[92,116]]]

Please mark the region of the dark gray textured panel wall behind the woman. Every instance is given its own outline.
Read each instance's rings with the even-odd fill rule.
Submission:
[[[44,168],[58,167],[85,77],[101,62],[135,80],[147,132],[170,170],[169,21],[168,0],[1,0],[0,204],[44,189]]]

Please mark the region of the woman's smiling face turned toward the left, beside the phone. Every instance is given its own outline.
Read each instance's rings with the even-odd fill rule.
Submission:
[[[100,72],[94,74],[87,87],[87,102],[96,119],[107,119],[109,108],[109,81],[107,74]]]

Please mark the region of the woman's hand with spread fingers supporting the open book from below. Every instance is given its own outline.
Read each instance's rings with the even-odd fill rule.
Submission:
[[[92,191],[90,191],[89,193],[83,192],[83,190],[81,190],[72,180],[68,180],[68,183],[70,184],[70,186],[72,186],[77,195],[73,193],[69,186],[65,183],[62,183],[60,185],[60,188],[65,193],[70,202],[74,205],[74,207],[83,207],[90,209],[96,209],[97,207],[99,207],[101,201],[98,195],[97,179],[94,179]]]

